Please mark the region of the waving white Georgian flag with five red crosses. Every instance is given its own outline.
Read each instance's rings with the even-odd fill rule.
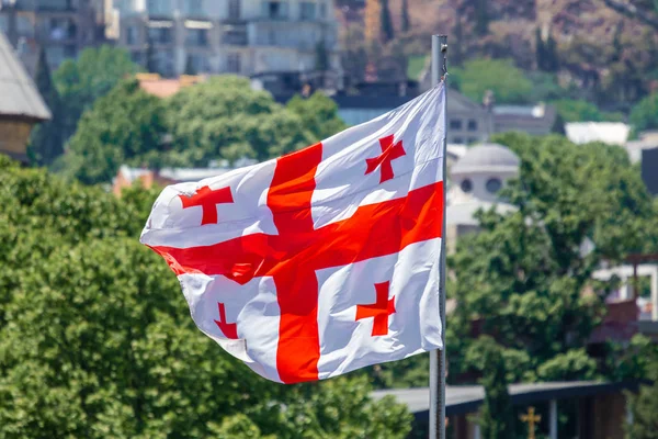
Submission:
[[[141,243],[253,371],[322,380],[441,349],[445,90],[306,149],[166,188]]]

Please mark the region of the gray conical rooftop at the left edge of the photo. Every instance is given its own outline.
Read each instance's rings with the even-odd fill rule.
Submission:
[[[0,116],[50,119],[36,86],[0,31]]]

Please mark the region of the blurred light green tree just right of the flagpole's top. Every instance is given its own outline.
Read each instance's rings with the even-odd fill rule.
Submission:
[[[470,59],[453,69],[451,76],[452,83],[476,102],[491,90],[496,102],[525,103],[532,91],[532,82],[509,59]]]

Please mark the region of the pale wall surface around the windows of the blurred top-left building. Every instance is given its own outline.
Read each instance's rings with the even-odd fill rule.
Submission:
[[[230,70],[228,59],[239,54],[240,74],[252,75],[266,71],[298,71],[315,68],[316,46],[325,42],[330,66],[340,71],[337,22],[332,0],[287,0],[287,15],[269,16],[269,0],[241,0],[240,19],[229,20],[229,8],[239,0],[105,0],[106,16],[118,21],[113,32],[118,46],[128,48],[134,59],[145,64],[149,22],[171,21],[171,43],[157,44],[156,52],[172,56],[174,74],[184,71],[188,57],[206,59],[209,74]],[[200,9],[194,3],[198,1]],[[315,4],[315,15],[303,15],[303,4]],[[313,7],[306,7],[307,12]],[[324,15],[324,16],[322,16]],[[190,21],[206,21],[208,30],[206,46],[190,47],[186,42]],[[228,32],[246,32],[246,41],[227,38]],[[131,32],[132,37],[127,37]],[[136,37],[135,37],[136,36]],[[128,40],[132,40],[131,42]],[[239,38],[238,38],[239,40]]]

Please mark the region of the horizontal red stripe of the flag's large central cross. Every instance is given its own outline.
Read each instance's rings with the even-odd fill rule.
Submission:
[[[297,266],[329,268],[400,251],[413,243],[441,237],[443,183],[406,198],[361,206],[352,217],[296,236],[253,234],[211,246],[154,246],[177,274],[275,275]],[[249,267],[249,271],[239,270]],[[241,282],[245,283],[245,282]]]

